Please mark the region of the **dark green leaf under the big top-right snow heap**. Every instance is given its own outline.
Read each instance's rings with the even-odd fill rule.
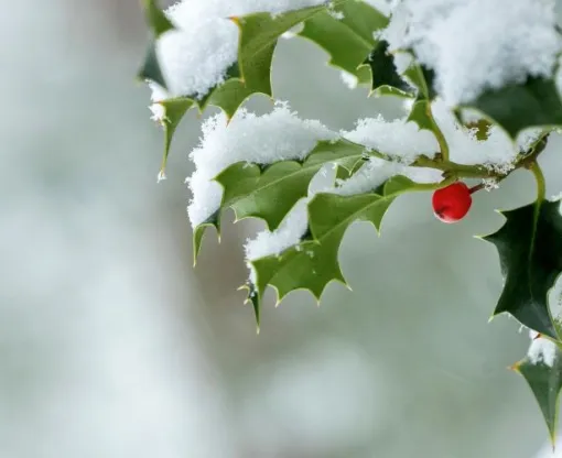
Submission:
[[[562,101],[553,79],[529,77],[525,84],[488,90],[467,106],[485,113],[514,139],[526,128],[562,126]]]

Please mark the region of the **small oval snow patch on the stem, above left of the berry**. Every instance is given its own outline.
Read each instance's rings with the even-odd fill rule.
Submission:
[[[342,135],[404,164],[411,164],[421,154],[433,157],[439,152],[439,144],[430,131],[420,130],[417,123],[406,119],[386,121],[380,115],[360,119],[355,130]]]

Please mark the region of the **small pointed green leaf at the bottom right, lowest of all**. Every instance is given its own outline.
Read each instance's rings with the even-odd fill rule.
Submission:
[[[554,445],[559,396],[560,390],[562,389],[562,351],[560,346],[555,345],[552,361],[545,361],[544,358],[537,359],[527,356],[525,359],[517,362],[512,369],[523,377],[534,394],[542,416],[547,422],[550,439],[552,445]]]

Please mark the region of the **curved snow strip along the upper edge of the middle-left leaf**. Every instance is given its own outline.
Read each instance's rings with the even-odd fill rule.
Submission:
[[[208,118],[203,123],[199,145],[191,153],[196,167],[187,179],[193,193],[187,208],[193,227],[220,207],[223,188],[213,179],[229,165],[302,160],[318,141],[337,137],[320,121],[302,120],[280,102],[261,117],[242,109],[229,123],[223,113]]]

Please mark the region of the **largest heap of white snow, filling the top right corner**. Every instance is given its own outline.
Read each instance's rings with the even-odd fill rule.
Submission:
[[[391,50],[413,48],[436,72],[448,106],[486,89],[550,77],[562,48],[554,0],[402,0],[382,36]]]

